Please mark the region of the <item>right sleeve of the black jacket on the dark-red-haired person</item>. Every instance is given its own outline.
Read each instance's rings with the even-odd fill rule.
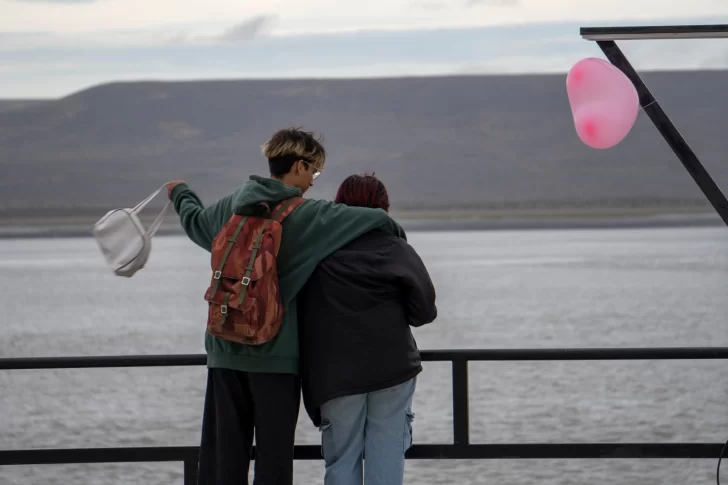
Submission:
[[[417,251],[402,241],[393,252],[392,264],[402,286],[409,324],[421,327],[434,321],[437,318],[435,287]]]

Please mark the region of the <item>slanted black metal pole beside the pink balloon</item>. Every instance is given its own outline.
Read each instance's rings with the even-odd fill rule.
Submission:
[[[667,144],[670,145],[670,148],[675,152],[675,155],[680,159],[688,173],[693,177],[693,180],[698,184],[698,187],[703,191],[703,194],[708,198],[718,212],[718,215],[723,219],[723,222],[728,225],[728,200],[726,200],[725,195],[723,195],[723,192],[715,184],[708,171],[705,170],[703,164],[700,163],[698,157],[693,153],[682,135],[680,135],[680,132],[677,131],[677,128],[672,124],[670,118],[650,90],[647,89],[644,81],[637,74],[637,71],[634,70],[621,49],[613,40],[600,40],[597,41],[597,45],[602,49],[604,55],[607,56],[609,62],[619,68],[632,81],[637,88],[642,109],[650,117],[652,123],[655,124],[657,130]]]

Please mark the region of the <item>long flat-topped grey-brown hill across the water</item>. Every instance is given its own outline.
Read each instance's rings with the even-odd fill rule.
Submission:
[[[728,189],[728,72],[644,78]],[[323,132],[330,153],[311,197],[373,171],[400,209],[705,206],[644,113],[592,150],[565,76],[533,75],[113,83],[0,102],[0,217],[99,215],[178,178],[212,202],[265,174],[261,143],[292,125]]]

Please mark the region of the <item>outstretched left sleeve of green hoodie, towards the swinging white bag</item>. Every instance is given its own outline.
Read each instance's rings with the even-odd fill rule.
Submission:
[[[172,190],[171,200],[179,214],[180,223],[187,237],[201,248],[211,251],[212,241],[225,221],[232,215],[232,194],[205,207],[197,194],[187,184]]]

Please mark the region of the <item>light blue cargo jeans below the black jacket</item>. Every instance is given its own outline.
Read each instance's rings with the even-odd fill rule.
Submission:
[[[402,484],[404,453],[412,446],[416,381],[321,406],[324,485],[362,485],[362,471],[366,485]]]

